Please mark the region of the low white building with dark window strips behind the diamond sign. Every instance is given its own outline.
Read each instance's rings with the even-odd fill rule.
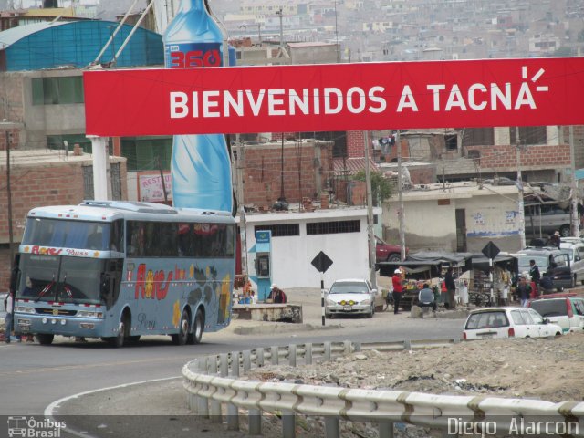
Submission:
[[[373,214],[381,217],[381,208],[374,208]],[[241,224],[239,216],[237,220]],[[278,287],[320,287],[321,275],[311,265],[320,251],[333,261],[323,276],[325,287],[337,278],[370,277],[367,208],[246,214],[249,276],[255,276],[255,254],[250,250],[259,229],[272,231],[272,280]]]

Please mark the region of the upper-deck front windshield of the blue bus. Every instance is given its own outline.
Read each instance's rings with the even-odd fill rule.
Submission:
[[[22,245],[121,251],[121,225],[29,217]]]

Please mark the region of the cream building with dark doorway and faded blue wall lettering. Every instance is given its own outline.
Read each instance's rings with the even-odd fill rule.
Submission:
[[[427,184],[403,192],[405,243],[422,249],[480,252],[492,240],[501,251],[520,249],[515,185]],[[399,242],[398,195],[384,204],[384,235]]]

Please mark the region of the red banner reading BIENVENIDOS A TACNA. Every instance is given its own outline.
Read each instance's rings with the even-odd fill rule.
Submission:
[[[84,73],[89,135],[584,124],[584,57]]]

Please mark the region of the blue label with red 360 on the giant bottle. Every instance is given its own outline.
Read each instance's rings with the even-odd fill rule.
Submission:
[[[221,43],[167,44],[164,64],[167,68],[221,67]]]

